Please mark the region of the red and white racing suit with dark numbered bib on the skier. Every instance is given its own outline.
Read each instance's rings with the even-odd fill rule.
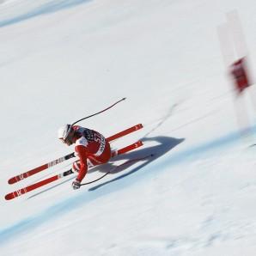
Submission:
[[[107,139],[101,133],[83,128],[79,125],[73,126],[73,129],[77,137],[75,152],[80,162],[80,169],[76,180],[82,181],[87,174],[89,166],[95,166],[109,161],[111,158],[111,149]]]

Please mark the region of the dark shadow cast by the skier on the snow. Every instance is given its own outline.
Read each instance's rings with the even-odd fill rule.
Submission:
[[[147,166],[150,162],[155,161],[157,158],[161,157],[162,155],[165,155],[170,151],[171,149],[174,149],[177,145],[182,143],[185,140],[185,138],[174,138],[174,137],[144,137],[142,139],[143,143],[145,142],[156,142],[157,145],[145,148],[145,149],[137,149],[136,151],[132,151],[130,153],[126,153],[125,155],[119,155],[115,157],[115,161],[119,160],[125,160],[127,163],[124,165],[119,166],[118,168],[114,168],[113,163],[104,164],[101,167],[97,168],[97,171],[100,171],[102,173],[106,173],[110,170],[110,168],[114,168],[113,172],[111,174],[119,174],[122,171],[125,171],[127,168],[131,168],[132,165],[137,164],[138,162],[142,162],[139,166],[136,168],[132,168],[128,173],[121,174],[118,177],[107,180],[106,182],[103,182],[97,186],[90,187],[88,191],[94,191],[101,186],[108,185],[114,181],[124,179],[125,177],[136,173],[141,168],[144,168]],[[140,159],[136,161],[137,159]]]

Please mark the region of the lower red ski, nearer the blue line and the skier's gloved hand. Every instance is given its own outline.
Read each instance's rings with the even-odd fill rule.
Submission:
[[[122,155],[122,154],[125,154],[126,152],[129,152],[131,151],[132,149],[137,149],[138,147],[141,147],[143,145],[143,142],[142,141],[138,141],[137,143],[132,143],[131,145],[123,148],[123,149],[119,149],[116,151],[116,154],[114,154],[113,156],[115,155]],[[69,169],[67,171],[65,171],[64,173],[62,174],[57,174],[57,175],[54,175],[50,178],[47,178],[46,180],[40,180],[39,182],[37,183],[34,183],[32,185],[29,185],[29,186],[26,186],[26,187],[23,187],[19,190],[16,190],[15,192],[10,192],[9,194],[5,195],[5,199],[6,200],[10,200],[10,199],[13,199],[13,198],[17,198],[17,197],[20,197],[21,195],[27,193],[27,192],[31,192],[41,186],[45,186],[49,183],[52,183],[53,181],[55,180],[59,180],[59,179],[62,179],[64,178],[65,176],[67,175],[70,175],[70,174],[74,174],[72,169]]]

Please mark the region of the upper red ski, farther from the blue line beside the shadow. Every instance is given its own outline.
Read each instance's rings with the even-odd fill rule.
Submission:
[[[134,125],[128,129],[126,129],[125,131],[120,131],[117,134],[114,134],[111,137],[107,137],[107,141],[108,142],[112,142],[113,140],[119,138],[119,137],[124,137],[125,135],[128,135],[129,133],[133,132],[133,131],[137,131],[143,128],[142,124],[138,124],[138,125]],[[20,180],[24,180],[29,176],[32,176],[34,174],[40,173],[43,170],[46,170],[47,168],[52,168],[53,166],[57,165],[58,163],[64,162],[66,160],[69,160],[70,158],[75,157],[75,153],[70,153],[69,155],[64,155],[58,159],[55,159],[51,162],[47,162],[46,164],[41,165],[40,167],[31,169],[23,174],[18,174],[15,177],[12,177],[8,180],[9,184],[14,184]]]

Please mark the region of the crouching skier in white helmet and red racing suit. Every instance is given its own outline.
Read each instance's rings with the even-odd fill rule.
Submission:
[[[72,182],[73,189],[80,188],[89,167],[106,163],[111,158],[110,144],[98,131],[79,125],[64,125],[58,129],[58,138],[68,146],[75,143],[75,152],[79,160],[74,162],[72,168],[78,173]]]

